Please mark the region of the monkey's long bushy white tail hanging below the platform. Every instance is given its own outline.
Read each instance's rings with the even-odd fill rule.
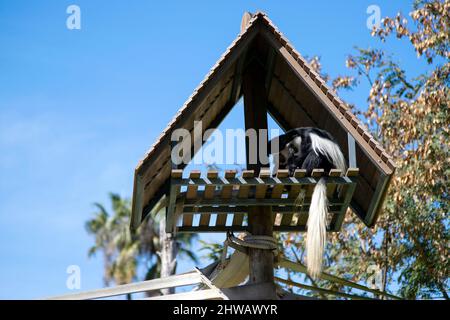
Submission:
[[[314,187],[306,224],[306,266],[313,279],[317,279],[322,270],[327,236],[327,216],[327,186],[325,179],[321,178]]]

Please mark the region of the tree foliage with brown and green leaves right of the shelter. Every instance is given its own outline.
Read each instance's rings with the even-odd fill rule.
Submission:
[[[373,229],[347,214],[342,231],[330,236],[327,271],[407,298],[449,298],[449,12],[448,0],[416,1],[414,29],[397,15],[372,31],[382,41],[394,32],[408,39],[425,57],[427,73],[410,77],[385,52],[369,48],[348,57],[350,75],[331,81],[335,90],[368,82],[368,108],[360,115],[397,170]],[[312,65],[320,71],[317,59]],[[283,240],[302,260],[303,237]]]

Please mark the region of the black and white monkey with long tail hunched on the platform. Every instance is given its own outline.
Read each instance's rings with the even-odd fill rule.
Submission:
[[[278,150],[271,150],[278,144]],[[293,176],[295,169],[305,169],[311,175],[313,169],[331,169],[345,173],[344,155],[334,138],[318,128],[297,128],[280,135],[269,142],[268,150],[273,153],[275,175],[278,169],[288,169]],[[328,200],[325,179],[321,178],[312,194],[306,233],[306,261],[309,274],[317,278],[322,269],[326,242]]]

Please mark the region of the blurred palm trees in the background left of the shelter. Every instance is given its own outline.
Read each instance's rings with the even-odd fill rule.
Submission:
[[[102,204],[94,203],[97,211],[94,217],[86,222],[86,230],[95,238],[95,244],[89,249],[91,257],[97,252],[103,254],[106,286],[112,282],[120,285],[138,280],[138,266],[142,266],[145,280],[154,279],[161,274],[161,249],[167,245],[167,237],[160,237],[159,222],[154,216],[148,217],[132,235],[129,230],[131,202],[119,195],[109,194],[112,214]],[[172,239],[171,245],[180,255],[197,262],[191,244],[197,235],[182,234]],[[170,244],[170,243],[169,243]],[[170,270],[174,274],[176,263]],[[166,274],[167,275],[167,274]],[[155,294],[155,293],[149,293]],[[158,293],[159,294],[159,293]]]

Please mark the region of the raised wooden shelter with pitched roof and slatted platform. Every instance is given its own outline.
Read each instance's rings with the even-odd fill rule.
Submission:
[[[209,171],[202,176],[193,171],[183,177],[183,165],[171,162],[172,132],[184,128],[192,133],[194,122],[202,121],[203,135],[216,128],[241,97],[246,129],[267,129],[267,114],[283,130],[325,129],[346,155],[348,171],[318,169],[306,176],[297,170],[289,177],[280,170],[271,177],[257,163],[248,164],[240,175]],[[198,151],[194,141],[192,151]],[[340,229],[348,207],[373,226],[394,170],[382,146],[269,18],[262,12],[246,13],[238,37],[139,162],[131,228],[155,208],[166,207],[168,232],[249,231],[272,236],[273,231],[303,231],[312,190],[323,175],[333,213],[329,230]],[[304,202],[297,208],[294,200],[301,192]],[[249,258],[250,282],[273,283],[272,253],[249,249]]]

